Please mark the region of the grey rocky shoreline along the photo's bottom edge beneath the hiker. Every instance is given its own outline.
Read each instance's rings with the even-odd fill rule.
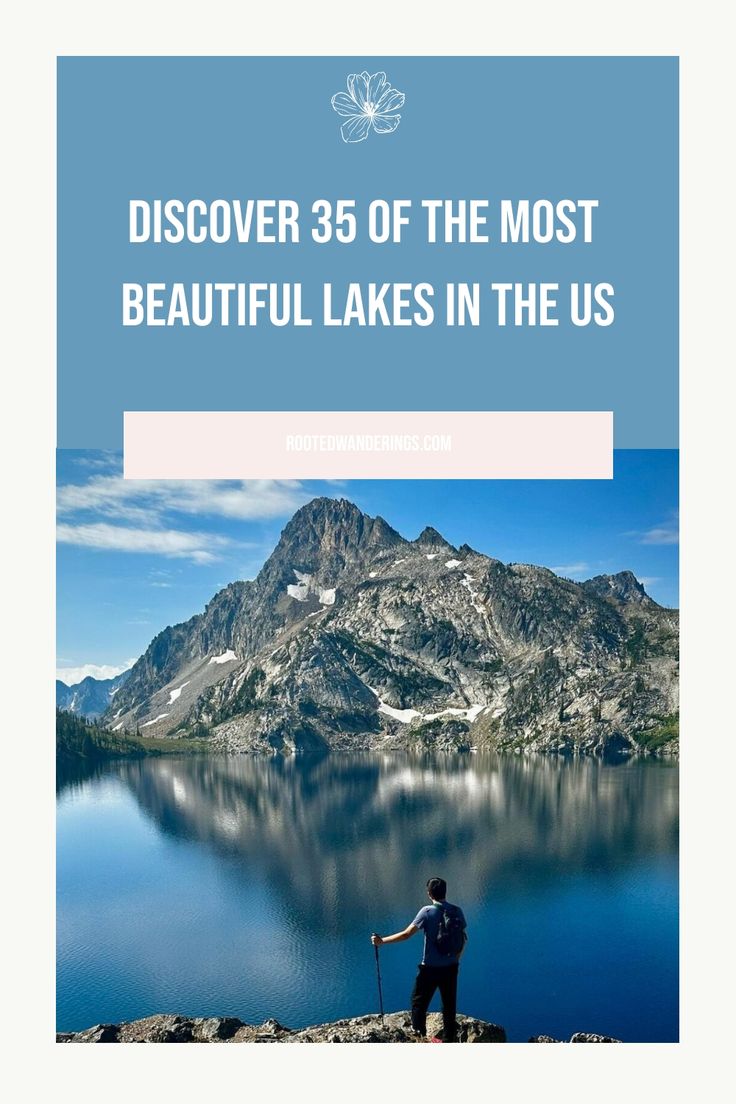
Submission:
[[[427,1038],[441,1031],[441,1016],[427,1017]],[[85,1031],[60,1032],[56,1042],[409,1042],[416,1043],[408,1012],[358,1016],[333,1023],[317,1023],[292,1031],[278,1020],[244,1023],[235,1017],[147,1016],[127,1023],[97,1023]],[[550,1036],[534,1036],[530,1042],[562,1042]],[[570,1042],[619,1042],[608,1036],[578,1031]],[[506,1042],[497,1023],[458,1016],[458,1042]]]

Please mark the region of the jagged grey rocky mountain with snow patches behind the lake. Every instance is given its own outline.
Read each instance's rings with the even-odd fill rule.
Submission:
[[[231,751],[633,751],[678,709],[678,613],[630,572],[574,583],[345,499],[166,628],[104,721]]]

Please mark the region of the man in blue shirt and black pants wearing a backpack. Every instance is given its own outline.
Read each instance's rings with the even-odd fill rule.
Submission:
[[[431,904],[419,909],[403,932],[395,935],[372,935],[374,947],[384,943],[403,943],[416,932],[424,932],[424,953],[412,991],[412,1027],[422,1038],[427,1034],[427,1009],[437,989],[442,999],[441,1042],[457,1040],[458,967],[465,951],[467,935],[462,909],[450,904],[444,878],[430,878],[427,894]]]

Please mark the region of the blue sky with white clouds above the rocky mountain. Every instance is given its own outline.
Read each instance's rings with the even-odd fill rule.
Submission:
[[[109,677],[167,625],[252,578],[301,505],[344,497],[404,537],[434,526],[575,580],[630,569],[678,605],[678,453],[618,450],[612,480],[124,480],[116,453],[57,453],[57,667]]]

